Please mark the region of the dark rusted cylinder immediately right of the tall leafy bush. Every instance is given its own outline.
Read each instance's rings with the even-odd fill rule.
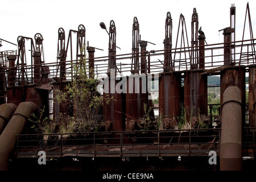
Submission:
[[[103,93],[103,117],[105,121],[112,122],[112,131],[125,130],[125,93],[116,92],[118,82],[115,78],[109,78],[108,84],[104,85],[104,90],[108,90],[108,93]],[[110,101],[107,103],[108,99]]]

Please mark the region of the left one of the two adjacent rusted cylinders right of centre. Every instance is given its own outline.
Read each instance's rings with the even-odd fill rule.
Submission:
[[[162,73],[159,76],[159,115],[172,119],[180,115],[181,73]]]

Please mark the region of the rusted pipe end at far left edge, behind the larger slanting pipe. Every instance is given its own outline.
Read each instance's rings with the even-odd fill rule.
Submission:
[[[0,105],[0,134],[2,130],[5,128],[7,122],[9,122],[11,118],[11,114],[17,109],[15,104],[1,104]]]

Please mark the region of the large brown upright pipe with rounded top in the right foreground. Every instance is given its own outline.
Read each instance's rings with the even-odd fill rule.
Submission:
[[[242,92],[229,86],[223,94],[220,170],[242,170]]]

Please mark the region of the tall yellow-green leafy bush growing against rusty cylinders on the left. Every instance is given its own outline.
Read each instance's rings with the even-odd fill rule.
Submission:
[[[88,63],[78,60],[72,64],[73,81],[65,90],[55,90],[56,104],[68,108],[68,113],[60,114],[60,133],[84,133],[97,130],[102,121],[104,101],[112,98],[102,97],[97,91],[98,80],[88,76]],[[73,74],[74,73],[74,74]]]

